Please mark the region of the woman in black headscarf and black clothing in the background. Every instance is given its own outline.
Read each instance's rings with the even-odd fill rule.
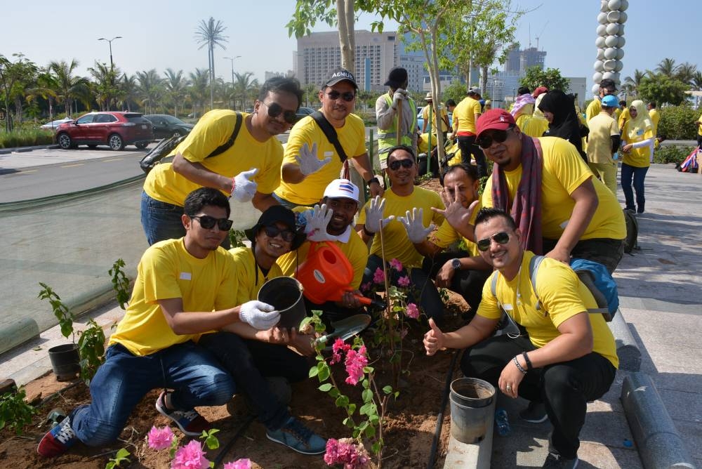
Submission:
[[[548,91],[543,96],[538,109],[543,112],[543,116],[548,120],[548,131],[543,133],[544,137],[560,137],[575,145],[578,153],[585,162],[588,157],[583,152],[583,139],[580,131],[580,120],[575,110],[573,96],[567,95],[560,90]]]

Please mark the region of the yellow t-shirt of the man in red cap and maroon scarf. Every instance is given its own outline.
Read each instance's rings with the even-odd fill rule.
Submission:
[[[568,140],[558,137],[541,137],[543,150],[543,171],[541,176],[541,234],[548,239],[559,239],[565,229],[575,201],[570,194],[586,180],[591,179],[597,192],[597,210],[590,225],[580,239],[611,238],[624,239],[626,226],[616,196],[597,178]],[[510,193],[510,206],[515,198],[522,166],[514,171],[505,171],[505,179]],[[488,178],[482,194],[484,207],[492,204],[492,178]]]

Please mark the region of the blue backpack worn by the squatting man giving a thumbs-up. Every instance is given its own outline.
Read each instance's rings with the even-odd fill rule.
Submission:
[[[536,310],[541,309],[541,300],[536,293],[536,272],[545,256],[534,256],[529,260],[529,277],[531,288],[536,296]],[[619,294],[616,282],[604,265],[588,259],[571,259],[571,269],[578,275],[578,279],[588,287],[597,302],[597,308],[588,308],[590,313],[599,313],[604,320],[610,322],[619,308]],[[492,276],[491,290],[495,295],[497,275]]]

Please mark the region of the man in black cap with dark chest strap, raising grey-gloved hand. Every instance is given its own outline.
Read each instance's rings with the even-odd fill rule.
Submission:
[[[312,206],[322,199],[324,188],[339,177],[345,157],[354,161],[354,167],[369,185],[371,196],[383,194],[380,181],[373,176],[371,161],[366,152],[366,129],[363,120],[352,114],[358,86],[351,72],[332,70],[319,91],[322,117],[336,131],[345,155],[338,154],[317,121],[307,116],[295,124],[285,147],[282,181],[274,197],[292,209],[298,205]],[[319,159],[318,154],[322,159]]]

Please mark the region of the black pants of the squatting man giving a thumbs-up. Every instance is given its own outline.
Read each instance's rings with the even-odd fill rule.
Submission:
[[[512,358],[534,349],[528,337],[492,337],[465,350],[461,370],[465,376],[480,378],[497,386]],[[588,401],[600,399],[609,390],[616,368],[602,355],[592,352],[570,362],[532,369],[519,384],[520,397],[543,402],[553,425],[549,450],[564,458],[578,455],[580,430],[585,424]]]

